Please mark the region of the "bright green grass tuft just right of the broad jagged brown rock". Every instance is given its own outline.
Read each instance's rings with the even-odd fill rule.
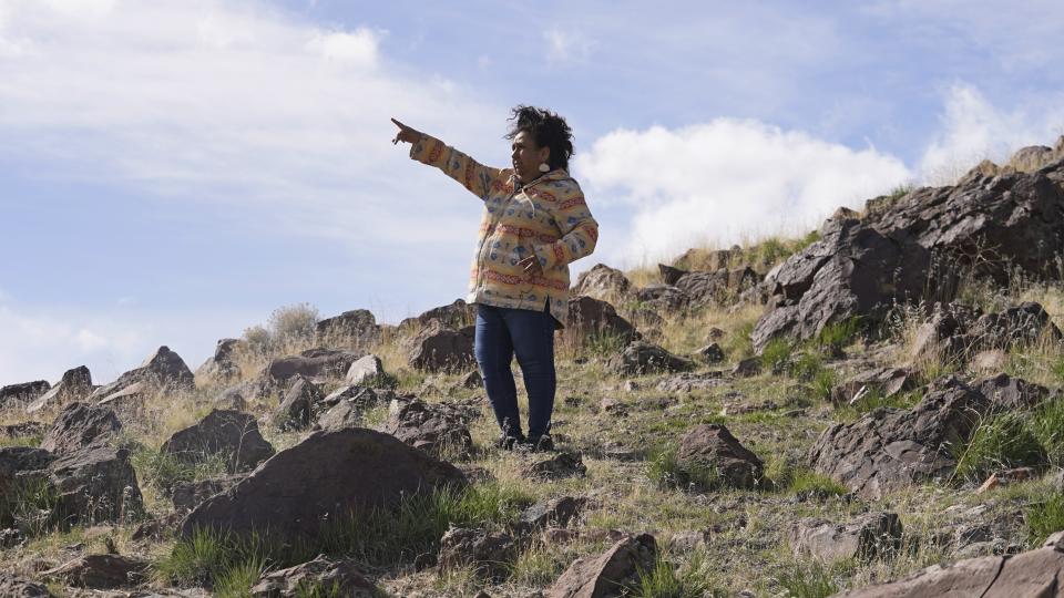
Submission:
[[[955,458],[954,478],[979,483],[995,470],[1039,466],[1046,457],[1024,417],[1002,413],[984,417]]]

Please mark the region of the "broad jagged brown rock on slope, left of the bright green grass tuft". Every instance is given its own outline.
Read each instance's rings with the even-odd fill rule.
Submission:
[[[836,424],[809,452],[812,467],[857,494],[884,492],[949,476],[950,448],[968,443],[990,402],[956,379],[939,381],[912,410],[880,408],[851,424]]]

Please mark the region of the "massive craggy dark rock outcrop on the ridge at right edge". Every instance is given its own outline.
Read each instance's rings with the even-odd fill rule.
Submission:
[[[755,328],[808,339],[853,317],[881,319],[896,301],[951,300],[963,271],[1005,285],[1016,271],[1056,279],[1064,247],[1064,162],[1031,174],[972,173],[915,189],[863,220],[826,223],[822,238],[769,272],[774,309]]]

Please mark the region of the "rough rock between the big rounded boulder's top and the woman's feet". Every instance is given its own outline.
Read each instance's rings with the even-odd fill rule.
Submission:
[[[469,422],[477,414],[470,405],[396,399],[382,431],[434,456],[467,455],[473,448]]]

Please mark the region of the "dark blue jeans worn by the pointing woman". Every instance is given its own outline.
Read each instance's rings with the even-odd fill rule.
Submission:
[[[507,436],[523,437],[510,363],[516,353],[529,394],[529,436],[550,432],[554,411],[554,318],[549,311],[477,306],[473,346],[488,401]]]

